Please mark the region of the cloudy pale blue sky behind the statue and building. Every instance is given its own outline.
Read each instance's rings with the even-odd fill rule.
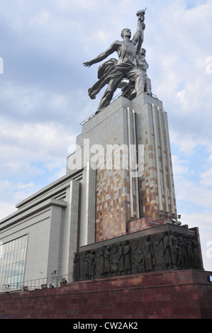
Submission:
[[[123,28],[135,32],[146,7],[143,47],[168,114],[177,210],[199,227],[212,271],[212,0],[0,1],[0,220],[65,175],[80,123],[101,98],[87,94],[99,64],[82,63]]]

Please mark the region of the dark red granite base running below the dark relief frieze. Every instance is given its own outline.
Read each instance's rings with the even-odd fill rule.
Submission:
[[[211,272],[162,271],[0,295],[1,319],[212,319]]]

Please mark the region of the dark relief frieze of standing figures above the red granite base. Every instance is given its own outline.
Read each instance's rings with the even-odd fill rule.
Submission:
[[[161,225],[82,247],[74,281],[169,269],[202,269],[198,235],[186,227]]]

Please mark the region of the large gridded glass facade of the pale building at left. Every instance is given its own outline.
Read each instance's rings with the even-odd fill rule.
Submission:
[[[0,256],[0,291],[9,285],[11,290],[22,285],[28,235],[1,245]]]

